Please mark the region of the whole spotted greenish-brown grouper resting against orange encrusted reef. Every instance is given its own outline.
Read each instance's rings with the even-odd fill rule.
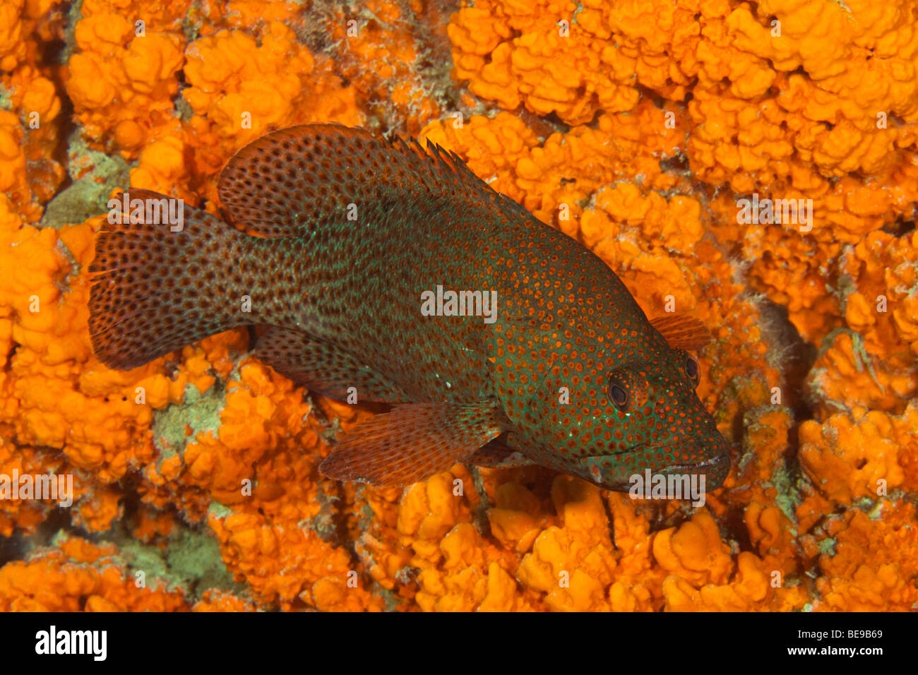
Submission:
[[[178,227],[128,208],[169,198],[149,190],[109,213],[90,266],[101,363],[258,326],[254,355],[281,375],[390,404],[319,465],[341,481],[408,486],[466,463],[616,491],[648,471],[722,485],[730,446],[696,391],[704,324],[648,320],[596,254],[454,152],[307,124],[234,154],[218,197],[222,215],[183,204]]]

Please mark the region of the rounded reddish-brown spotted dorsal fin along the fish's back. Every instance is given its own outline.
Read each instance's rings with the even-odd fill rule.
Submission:
[[[354,219],[355,226],[372,224],[407,208],[452,204],[505,217],[521,211],[453,152],[339,124],[306,124],[252,141],[223,169],[218,193],[234,222],[264,237],[302,236]]]

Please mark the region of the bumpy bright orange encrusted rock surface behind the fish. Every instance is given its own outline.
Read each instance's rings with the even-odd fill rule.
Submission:
[[[0,0],[0,478],[73,476],[0,499],[0,611],[916,608],[918,2],[474,5]],[[323,121],[441,144],[703,321],[723,487],[340,483],[376,410],[244,330],[99,364],[108,197],[217,214],[233,152]]]

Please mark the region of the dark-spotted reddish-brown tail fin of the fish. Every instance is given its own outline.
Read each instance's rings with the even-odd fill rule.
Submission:
[[[130,189],[122,201],[127,212],[118,208],[120,223],[107,223],[95,241],[89,332],[106,366],[142,366],[257,321],[241,305],[251,293],[248,240],[257,240],[170,199]]]

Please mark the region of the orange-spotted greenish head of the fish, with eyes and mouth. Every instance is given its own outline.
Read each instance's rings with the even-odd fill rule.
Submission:
[[[695,387],[700,366],[670,348],[622,359],[566,360],[533,401],[543,410],[552,465],[600,488],[629,491],[635,476],[688,477],[711,490],[730,470],[730,447]],[[560,392],[560,396],[558,394]],[[547,428],[546,428],[547,427]]]

